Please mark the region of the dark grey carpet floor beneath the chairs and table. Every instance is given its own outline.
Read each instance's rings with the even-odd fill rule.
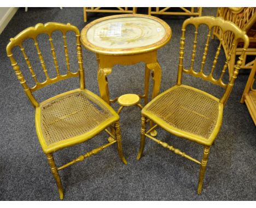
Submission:
[[[217,8],[203,8],[203,15],[216,15]],[[139,8],[139,13],[147,13]],[[89,22],[104,14],[89,14]],[[179,38],[183,16],[161,16],[172,28],[171,41],[158,52],[162,67],[161,92],[176,83],[179,57]],[[40,148],[35,127],[34,109],[11,69],[5,47],[11,37],[21,30],[42,22],[70,22],[82,29],[82,8],[20,8],[0,35],[0,200],[59,200],[59,194],[46,157]],[[202,34],[206,29],[201,28]],[[186,46],[191,49],[194,30],[187,30]],[[57,34],[56,34],[57,36]],[[45,38],[45,36],[43,36]],[[42,38],[42,40],[43,40]],[[199,40],[205,41],[203,35]],[[39,40],[39,44],[40,44]],[[61,39],[54,39],[57,45]],[[218,41],[213,40],[217,46]],[[26,42],[28,55],[35,64],[39,81],[40,66],[35,63],[36,51],[30,41]],[[69,44],[72,45],[72,44]],[[198,53],[203,52],[204,43]],[[45,61],[53,61],[48,46],[41,46]],[[60,54],[62,48],[56,47]],[[46,52],[48,51],[48,54]],[[191,50],[187,50],[191,51]],[[58,52],[58,53],[59,53]],[[69,50],[74,58],[74,48]],[[209,49],[206,68],[210,68],[215,51]],[[188,52],[189,54],[189,52]],[[97,62],[95,54],[83,49],[86,88],[99,95],[97,85]],[[201,55],[200,55],[201,56]],[[220,63],[223,64],[223,51]],[[189,56],[190,58],[190,56]],[[189,64],[189,58],[184,64]],[[21,58],[20,58],[21,59]],[[61,63],[61,61],[59,61]],[[65,68],[63,59],[60,68]],[[21,64],[25,66],[23,62]],[[200,61],[195,63],[200,67]],[[42,71],[41,71],[42,72]],[[51,73],[51,72],[50,72]],[[24,72],[28,75],[27,69]],[[54,74],[50,74],[53,76]],[[225,107],[222,129],[213,145],[203,185],[202,195],[197,195],[199,166],[173,152],[147,140],[143,157],[136,160],[139,148],[140,111],[137,107],[124,108],[120,115],[123,150],[128,162],[125,166],[118,158],[115,146],[111,146],[82,163],[60,172],[65,189],[64,200],[255,200],[256,199],[256,128],[245,105],[240,103],[248,71],[241,70]],[[144,65],[115,66],[109,76],[110,96],[125,93],[143,93]],[[28,78],[28,81],[29,80]],[[210,91],[216,96],[222,92],[218,87],[185,76],[185,84]],[[151,82],[152,83],[152,82]],[[59,82],[35,93],[42,101],[50,96],[78,87],[78,79]],[[117,109],[117,105],[113,105]],[[177,138],[158,130],[159,139],[201,160],[202,146]],[[68,148],[55,154],[58,166],[106,143],[106,134],[101,133],[88,143]]]

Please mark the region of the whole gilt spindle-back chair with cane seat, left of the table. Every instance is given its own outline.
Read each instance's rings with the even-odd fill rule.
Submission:
[[[54,47],[53,33],[56,31],[61,32],[60,34],[63,37],[63,51],[65,54],[63,60],[66,60],[66,69],[64,69],[64,75],[62,75],[60,72],[61,67],[57,61],[56,49]],[[75,34],[74,38],[79,67],[79,69],[75,72],[72,72],[72,65],[70,62],[70,59],[73,56],[72,54],[68,53],[67,47],[68,44],[66,35],[69,32],[73,32]],[[46,47],[47,44],[50,45],[49,52],[51,51],[53,56],[53,62],[56,71],[56,77],[54,78],[50,78],[50,71],[47,69],[48,64],[44,62],[43,53],[39,48],[40,44],[38,43],[38,37],[39,35],[43,34],[48,35],[49,38],[49,42],[44,42],[43,46]],[[38,60],[40,62],[39,65],[42,66],[44,72],[45,81],[43,82],[38,81],[39,79],[37,78],[37,72],[33,69],[33,64],[28,58],[27,52],[25,52],[24,41],[26,39],[32,39],[34,46],[36,47]],[[23,56],[26,61],[30,75],[34,81],[33,87],[28,87],[25,77],[20,70],[20,66],[14,58],[13,50],[16,48],[16,46],[20,48],[22,54],[21,56]],[[30,50],[32,50],[32,47]],[[38,139],[44,153],[47,156],[51,172],[53,173],[56,180],[61,199],[63,199],[63,188],[59,176],[59,170],[66,168],[73,163],[83,161],[85,158],[97,154],[104,148],[107,148],[114,143],[117,143],[119,157],[125,164],[127,163],[123,156],[121,147],[121,134],[118,114],[115,113],[115,111],[100,97],[85,89],[82,48],[80,45],[80,33],[77,27],[70,25],[70,23],[64,25],[62,23],[56,22],[49,22],[45,25],[39,23],[35,27],[29,27],[16,35],[15,38],[10,39],[10,42],[7,45],[7,56],[10,58],[11,65],[13,66],[13,69],[20,83],[24,88],[28,99],[36,108],[36,131]],[[80,80],[79,89],[74,89],[50,97],[49,99],[40,103],[32,94],[34,91],[43,88],[46,85],[59,82],[63,79],[78,76]],[[107,130],[107,127],[112,125],[115,127],[115,135]],[[53,152],[85,142],[103,130],[105,130],[113,138],[112,142],[91,150],[59,168],[56,167]]]

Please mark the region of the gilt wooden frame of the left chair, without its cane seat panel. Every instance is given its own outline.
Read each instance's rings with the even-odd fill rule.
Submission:
[[[65,59],[66,59],[66,65],[67,65],[67,74],[66,75],[60,75],[59,64],[57,62],[53,39],[51,38],[51,34],[56,30],[59,30],[63,35],[62,37],[63,37],[63,41],[64,41],[64,51],[65,51]],[[77,72],[71,72],[69,69],[69,57],[68,57],[68,49],[67,49],[67,41],[66,41],[66,33],[68,31],[73,31],[75,33],[76,45],[77,45],[77,47],[76,47],[77,59],[78,59],[78,66],[79,66],[79,69],[77,70]],[[42,33],[47,34],[49,36],[51,53],[53,55],[55,70],[56,70],[56,74],[57,74],[57,76],[55,78],[49,78],[48,70],[46,69],[43,55],[40,51],[40,48],[39,48],[39,45],[37,42],[37,36]],[[25,52],[25,49],[22,46],[22,42],[25,39],[32,39],[34,41],[34,45],[36,46],[38,58],[39,58],[40,64],[41,64],[44,74],[45,74],[45,81],[42,83],[38,82],[36,74],[32,68],[32,64],[30,63],[30,60]],[[20,66],[18,65],[18,63],[16,62],[16,60],[13,56],[12,50],[16,46],[20,47],[20,50],[26,60],[28,69],[30,70],[30,74],[34,79],[34,82],[36,83],[34,85],[34,87],[32,87],[32,88],[29,88],[28,85],[26,84],[26,80],[25,80],[24,76],[22,75]],[[56,181],[60,199],[63,199],[63,187],[62,187],[62,182],[61,182],[60,175],[59,175],[59,170],[66,168],[68,166],[71,166],[71,164],[83,161],[85,158],[88,158],[92,155],[97,154],[98,152],[102,151],[103,149],[107,148],[108,146],[110,146],[114,143],[117,143],[118,155],[119,155],[121,161],[123,161],[125,164],[127,164],[125,157],[123,155],[123,149],[121,146],[119,115],[104,100],[102,100],[100,97],[98,97],[94,93],[91,93],[89,90],[85,89],[82,47],[80,45],[80,32],[77,27],[72,26],[70,23],[67,23],[67,25],[65,25],[63,23],[57,23],[57,22],[48,22],[45,24],[38,23],[36,26],[26,28],[25,30],[20,32],[18,35],[16,35],[14,38],[11,38],[9,44],[6,47],[6,50],[7,50],[7,56],[10,59],[11,65],[13,66],[16,76],[18,77],[22,87],[24,88],[24,91],[25,91],[28,99],[31,101],[31,104],[33,105],[34,108],[36,108],[35,123],[36,123],[36,131],[37,131],[38,140],[39,140],[39,143],[42,146],[42,149],[48,159],[48,163],[49,163],[51,172],[53,173],[53,176]],[[79,83],[80,83],[79,89],[74,89],[74,90],[67,91],[65,93],[53,96],[50,99],[45,100],[40,103],[32,95],[33,91],[43,88],[46,85],[53,84],[53,83],[59,82],[63,79],[67,79],[67,78],[71,78],[71,77],[75,77],[75,76],[79,76]],[[83,93],[92,97],[95,100],[94,103],[96,105],[100,104],[100,105],[103,105],[104,107],[106,107],[108,109],[108,111],[112,114],[112,117],[105,120],[103,123],[100,123],[97,127],[90,130],[89,132],[86,132],[79,136],[61,140],[60,142],[56,142],[54,144],[47,145],[45,142],[45,139],[44,139],[42,129],[41,129],[41,111],[42,111],[41,107],[45,103],[49,103],[49,102],[57,99],[58,97],[66,96],[71,93],[79,92],[79,91],[83,91]],[[114,130],[113,132],[109,132],[107,130],[107,127],[109,127],[109,126],[113,126],[113,130]],[[109,134],[109,136],[112,137],[112,141],[110,143],[102,145],[99,148],[93,149],[84,155],[80,155],[79,157],[75,158],[71,162],[68,162],[59,168],[56,167],[54,157],[53,157],[54,152],[59,151],[64,148],[68,148],[69,146],[83,143],[86,140],[89,140],[92,137],[96,136],[98,133],[102,132],[103,130],[105,130]]]

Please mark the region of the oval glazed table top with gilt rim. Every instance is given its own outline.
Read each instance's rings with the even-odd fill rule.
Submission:
[[[103,17],[86,25],[81,42],[90,51],[128,55],[156,50],[171,39],[171,28],[161,19],[141,14]]]

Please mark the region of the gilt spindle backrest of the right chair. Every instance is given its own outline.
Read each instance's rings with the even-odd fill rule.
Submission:
[[[195,26],[195,36],[194,36],[194,43],[193,43],[193,51],[192,51],[192,55],[191,55],[191,65],[190,65],[189,69],[184,69],[183,58],[184,58],[184,45],[185,45],[185,28],[190,24]],[[195,63],[196,47],[197,47],[197,34],[198,34],[198,28],[202,24],[208,26],[208,33],[207,33],[206,44],[205,44],[204,51],[203,51],[203,56],[202,56],[202,59],[201,59],[201,69],[200,69],[200,71],[196,72],[194,70],[194,63]],[[225,61],[225,64],[224,64],[223,68],[221,69],[222,72],[220,73],[219,78],[214,78],[213,77],[213,72],[216,69],[216,64],[217,64],[217,61],[218,61],[218,58],[219,58],[220,49],[222,48],[223,39],[220,40],[220,43],[218,45],[217,52],[216,52],[214,60],[213,60],[213,64],[212,64],[210,74],[206,75],[204,73],[204,67],[205,67],[207,52],[208,52],[208,48],[209,48],[210,37],[211,37],[211,33],[212,33],[212,30],[213,30],[214,27],[219,27],[219,29],[222,30],[223,34],[229,32],[229,33],[232,33],[232,35],[234,35],[234,41],[232,41],[232,43],[231,43],[231,50],[226,55],[226,61]],[[228,70],[228,72],[229,72],[229,82],[224,83],[223,76],[226,72],[226,69],[228,68],[228,63],[229,63],[230,58],[231,58],[231,53],[235,49],[238,40],[241,40],[241,39],[244,42],[242,54],[238,58],[237,63],[234,66],[234,69]],[[231,93],[232,87],[234,85],[234,81],[235,81],[235,79],[238,75],[238,71],[239,71],[240,66],[242,64],[242,60],[243,60],[243,58],[245,58],[245,52],[246,52],[246,50],[248,48],[248,45],[249,45],[249,38],[246,35],[246,32],[241,30],[234,23],[232,23],[230,21],[223,20],[222,17],[212,17],[212,16],[191,17],[190,19],[185,20],[183,25],[182,25],[182,36],[181,36],[180,44],[181,44],[181,46],[180,46],[180,52],[179,52],[177,85],[182,84],[182,74],[183,74],[183,72],[185,72],[186,74],[193,75],[194,77],[200,77],[201,79],[203,79],[205,81],[210,81],[213,84],[217,84],[220,87],[223,87],[225,89],[225,92],[224,92],[223,96],[220,99],[220,102],[224,103],[224,105],[225,105],[225,103],[228,100],[228,97]]]

